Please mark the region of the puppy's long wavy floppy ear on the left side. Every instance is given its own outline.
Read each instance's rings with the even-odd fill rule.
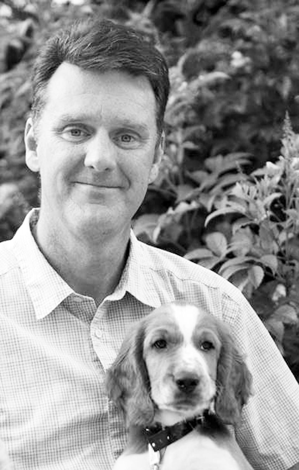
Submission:
[[[108,397],[123,410],[127,426],[145,426],[152,422],[154,405],[143,360],[143,322],[130,330],[106,374]]]

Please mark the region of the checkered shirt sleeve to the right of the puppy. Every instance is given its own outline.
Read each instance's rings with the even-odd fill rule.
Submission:
[[[241,294],[233,334],[253,375],[236,439],[253,468],[290,469],[299,462],[299,384]]]

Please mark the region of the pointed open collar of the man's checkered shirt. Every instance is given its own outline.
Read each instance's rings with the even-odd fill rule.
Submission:
[[[38,248],[31,233],[31,226],[38,220],[38,213],[38,209],[32,209],[26,215],[12,243],[36,317],[42,319],[53,312],[70,294],[74,294],[74,290],[54,270]],[[118,286],[107,300],[119,300],[129,292],[143,304],[153,308],[160,306],[162,302],[154,273],[144,269],[148,264],[150,260],[131,230],[127,263]]]

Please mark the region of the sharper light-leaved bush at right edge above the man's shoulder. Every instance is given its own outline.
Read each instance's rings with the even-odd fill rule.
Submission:
[[[223,214],[233,214],[231,233],[207,237],[198,259],[229,279],[257,310],[283,351],[284,325],[298,323],[299,295],[299,135],[284,124],[282,153],[273,164],[240,175],[215,206],[206,225]],[[264,283],[262,284],[262,282]],[[261,305],[261,309],[259,309]]]

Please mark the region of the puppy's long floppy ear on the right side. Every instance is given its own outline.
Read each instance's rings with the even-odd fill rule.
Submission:
[[[251,394],[252,376],[225,327],[220,336],[222,347],[217,365],[215,411],[224,423],[236,424]]]

